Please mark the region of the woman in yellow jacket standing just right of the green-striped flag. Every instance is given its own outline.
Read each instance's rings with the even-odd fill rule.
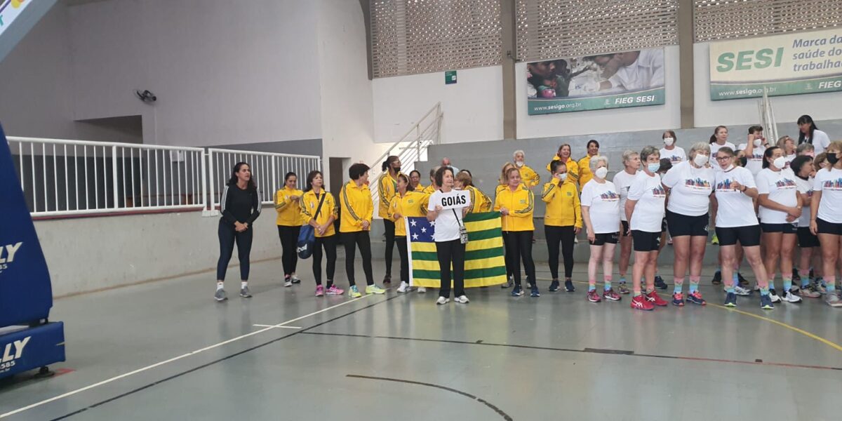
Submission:
[[[532,233],[535,231],[532,214],[535,210],[535,196],[521,183],[520,171],[517,168],[506,170],[506,179],[509,184],[495,198],[494,210],[499,210],[503,217],[504,237],[514,275],[512,296],[524,295],[520,286],[520,260],[523,260],[526,281],[530,283],[532,290],[530,296],[538,297],[541,294],[538,292],[535,262],[532,260]]]

